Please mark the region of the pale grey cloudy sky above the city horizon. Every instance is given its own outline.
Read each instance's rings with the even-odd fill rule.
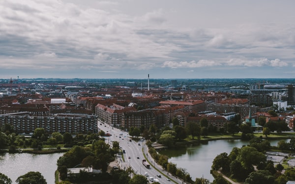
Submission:
[[[0,0],[0,78],[295,78],[295,0]]]

